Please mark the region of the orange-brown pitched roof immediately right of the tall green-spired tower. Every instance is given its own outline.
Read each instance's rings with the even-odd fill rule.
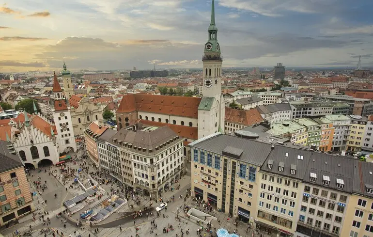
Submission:
[[[256,108],[250,110],[236,110],[225,107],[225,122],[250,126],[263,121],[262,115],[260,115]]]

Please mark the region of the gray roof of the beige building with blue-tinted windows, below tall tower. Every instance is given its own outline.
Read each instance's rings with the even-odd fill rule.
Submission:
[[[223,150],[225,150],[227,147],[230,147],[228,150],[232,150],[232,148],[243,150],[239,160],[257,166],[261,166],[268,154],[271,152],[271,144],[258,142],[255,140],[242,139],[227,134],[220,134],[210,139],[197,142],[191,146],[214,152],[219,155],[222,155]]]

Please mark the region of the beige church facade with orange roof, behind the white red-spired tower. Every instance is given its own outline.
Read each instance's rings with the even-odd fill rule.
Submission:
[[[104,125],[102,109],[93,104],[88,97],[72,95],[69,99],[71,106],[71,118],[73,120],[74,135],[82,135],[93,121],[98,125]]]

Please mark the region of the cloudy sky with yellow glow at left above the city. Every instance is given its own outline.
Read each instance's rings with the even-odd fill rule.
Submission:
[[[216,0],[223,67],[373,65],[372,0]],[[202,68],[211,0],[0,0],[0,72]]]

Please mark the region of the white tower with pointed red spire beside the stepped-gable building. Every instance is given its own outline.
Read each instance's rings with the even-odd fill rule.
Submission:
[[[71,149],[77,151],[70,107],[66,104],[65,98],[62,95],[62,89],[60,83],[58,82],[56,73],[54,73],[53,78],[53,95],[54,106],[52,108],[52,113],[53,121],[57,130],[57,150],[59,153],[69,151]]]

